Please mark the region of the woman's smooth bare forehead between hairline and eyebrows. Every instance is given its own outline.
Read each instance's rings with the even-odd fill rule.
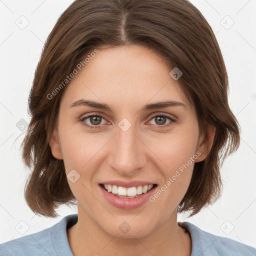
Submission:
[[[65,88],[62,101],[66,104],[82,97],[134,108],[149,101],[189,103],[178,80],[169,75],[167,63],[146,47],[98,48],[83,65],[80,70],[76,67],[77,73]]]

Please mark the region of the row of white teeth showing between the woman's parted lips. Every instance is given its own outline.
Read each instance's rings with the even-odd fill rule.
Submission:
[[[115,196],[121,198],[135,198],[141,194],[147,193],[152,188],[157,186],[157,184],[148,184],[148,185],[139,185],[139,186],[132,186],[132,187],[123,187],[123,186],[116,186],[110,184],[99,184],[103,187],[107,192],[114,194]]]

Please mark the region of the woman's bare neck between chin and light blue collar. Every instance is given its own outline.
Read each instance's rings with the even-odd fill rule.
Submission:
[[[107,233],[78,210],[77,223],[67,229],[67,238],[75,256],[190,256],[190,235],[177,225],[177,215],[174,216],[143,237],[121,238]]]

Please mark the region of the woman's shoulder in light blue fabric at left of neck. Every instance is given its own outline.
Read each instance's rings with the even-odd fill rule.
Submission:
[[[66,226],[70,221],[76,222],[77,214],[65,216],[55,225],[39,232],[1,243],[0,255],[72,255],[66,236]]]

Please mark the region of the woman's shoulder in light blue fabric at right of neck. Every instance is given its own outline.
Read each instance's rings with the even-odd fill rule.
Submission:
[[[256,248],[230,238],[206,232],[189,222],[178,222],[189,231],[192,240],[191,256],[255,256]]]

